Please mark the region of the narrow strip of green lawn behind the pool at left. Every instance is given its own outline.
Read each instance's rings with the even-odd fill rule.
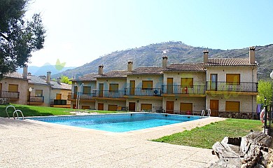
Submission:
[[[28,106],[21,104],[10,104],[15,106],[15,109],[22,111],[25,117],[32,116],[61,116],[61,115],[71,115],[71,111],[77,111],[76,109],[64,109],[64,108],[55,108],[55,107],[45,107],[45,106]],[[0,117],[8,117],[6,115],[6,107],[8,105],[0,105]],[[8,108],[8,115],[13,116],[14,109],[12,107]],[[127,111],[92,111],[92,110],[78,110],[85,113],[120,113]],[[18,113],[19,116],[20,113]]]

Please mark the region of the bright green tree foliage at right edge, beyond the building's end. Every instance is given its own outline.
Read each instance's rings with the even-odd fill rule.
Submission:
[[[257,103],[264,104],[265,97],[267,98],[266,104],[268,105],[272,101],[272,83],[265,80],[260,80],[258,84],[258,96]]]

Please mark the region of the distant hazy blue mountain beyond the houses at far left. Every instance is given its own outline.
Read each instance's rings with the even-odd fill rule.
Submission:
[[[75,68],[76,67],[71,66],[71,67],[63,67],[62,69],[60,69],[59,67],[56,67],[55,65],[45,64],[43,66],[28,66],[27,71],[34,76],[40,76],[40,75],[46,76],[47,71],[51,71],[51,74],[54,75],[57,73],[61,73],[62,71],[75,69]],[[18,72],[22,73],[22,68],[18,69]]]

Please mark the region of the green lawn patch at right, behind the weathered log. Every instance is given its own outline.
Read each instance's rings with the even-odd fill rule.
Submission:
[[[210,149],[216,141],[222,141],[224,137],[244,137],[251,130],[262,130],[260,120],[227,119],[153,141]]]

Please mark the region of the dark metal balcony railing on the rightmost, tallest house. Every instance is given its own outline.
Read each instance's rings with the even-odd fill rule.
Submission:
[[[248,82],[230,83],[207,81],[207,91],[258,92],[258,83]]]

